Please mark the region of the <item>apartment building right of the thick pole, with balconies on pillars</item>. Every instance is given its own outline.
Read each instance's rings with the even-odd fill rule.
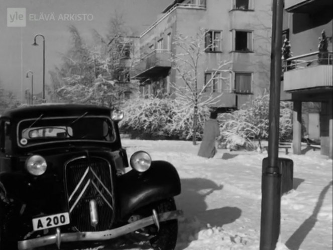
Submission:
[[[331,0],[284,3],[283,34],[290,41],[293,55],[284,62],[281,100],[294,103],[294,154],[302,153],[302,103],[319,102],[320,150],[332,158],[332,7]]]

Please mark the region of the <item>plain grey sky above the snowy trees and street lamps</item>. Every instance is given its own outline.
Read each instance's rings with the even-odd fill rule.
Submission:
[[[61,54],[69,46],[69,25],[76,26],[89,41],[92,29],[106,34],[108,22],[117,12],[128,27],[140,34],[170,3],[171,0],[0,0],[2,86],[21,98],[21,92],[30,89],[31,78],[26,78],[26,72],[32,70],[34,92],[42,90],[43,39],[37,37],[40,46],[32,46],[36,34],[45,37],[45,84],[48,85],[48,71],[61,63]]]

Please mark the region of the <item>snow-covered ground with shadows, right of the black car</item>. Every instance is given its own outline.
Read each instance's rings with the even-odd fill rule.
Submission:
[[[123,140],[129,156],[145,150],[178,170],[182,193],[176,204],[184,218],[177,250],[258,250],[262,159],[267,154],[218,150],[213,159],[205,159],[196,155],[199,144]],[[299,156],[283,151],[280,157],[294,162],[294,190],[282,196],[276,249],[332,249],[332,160],[319,151],[304,149]]]

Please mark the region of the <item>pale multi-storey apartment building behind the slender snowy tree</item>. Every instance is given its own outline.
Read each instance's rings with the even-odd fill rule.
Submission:
[[[214,44],[200,62],[198,84],[209,79],[219,62],[230,61],[229,84],[216,81],[208,91],[223,92],[215,104],[221,111],[241,107],[269,88],[271,23],[271,1],[267,0],[173,1],[140,35],[141,61],[135,78],[141,82],[141,93],[172,94],[170,83],[184,84],[170,60],[180,51],[173,41],[178,34],[195,36],[204,29],[203,39]]]

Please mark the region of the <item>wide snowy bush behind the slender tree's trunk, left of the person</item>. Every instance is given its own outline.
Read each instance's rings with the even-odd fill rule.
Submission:
[[[140,139],[192,138],[193,109],[182,100],[171,98],[136,98],[124,105],[125,117],[120,122],[122,133]],[[208,114],[207,107],[198,108],[198,135],[201,138]]]

